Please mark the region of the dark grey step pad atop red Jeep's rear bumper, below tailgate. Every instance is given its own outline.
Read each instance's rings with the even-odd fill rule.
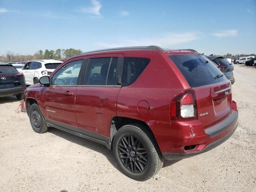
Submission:
[[[223,131],[226,131],[238,120],[238,111],[232,110],[227,118],[225,118],[222,122],[206,128],[205,133],[208,134],[210,137],[214,137],[220,134]]]

